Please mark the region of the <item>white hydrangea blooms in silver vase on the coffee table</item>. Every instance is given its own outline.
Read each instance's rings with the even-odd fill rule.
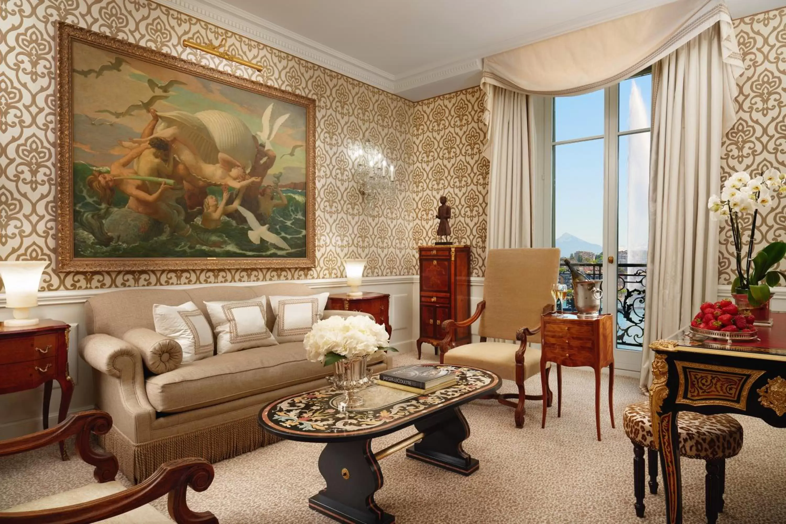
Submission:
[[[378,350],[398,351],[391,347],[383,325],[365,315],[325,318],[318,321],[303,340],[308,360],[335,364],[342,360],[367,357]]]

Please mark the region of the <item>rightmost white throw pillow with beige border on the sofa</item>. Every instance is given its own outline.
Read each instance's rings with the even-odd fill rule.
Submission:
[[[325,312],[330,293],[305,296],[271,296],[270,307],[276,316],[273,335],[279,343],[302,342],[311,326]]]

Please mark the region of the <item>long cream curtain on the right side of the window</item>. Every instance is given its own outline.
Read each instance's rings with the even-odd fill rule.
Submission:
[[[688,325],[718,288],[718,222],[707,199],[720,192],[721,139],[735,121],[743,70],[727,43],[716,25],[653,68],[643,391],[651,380],[649,343]]]

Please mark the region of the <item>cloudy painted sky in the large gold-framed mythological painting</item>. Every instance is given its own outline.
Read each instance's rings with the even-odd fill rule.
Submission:
[[[291,152],[293,145],[304,144],[306,141],[305,108],[81,42],[73,45],[72,65],[78,71],[98,69],[101,64],[112,62],[116,56],[127,61],[121,65],[120,71],[105,71],[101,76],[77,73],[72,75],[76,160],[108,165],[127,152],[117,141],[139,137],[141,130],[150,120],[144,110],[115,118],[105,112],[98,112],[102,109],[123,112],[132,104],[148,101],[154,94],[168,95],[167,99],[156,101],[154,107],[157,112],[184,111],[194,114],[218,110],[241,119],[254,134],[262,130],[263,114],[272,103],[271,127],[279,116],[289,116],[272,141],[277,160],[270,174],[285,168],[289,168],[286,171],[292,173],[292,168],[297,167],[303,170],[305,180],[305,148],[297,149],[292,156],[285,156],[285,153]],[[185,84],[173,86],[169,93],[160,93],[159,90],[154,93],[148,85],[149,79],[160,84],[175,79]],[[250,163],[250,160],[248,162]],[[282,178],[281,182],[287,181]]]

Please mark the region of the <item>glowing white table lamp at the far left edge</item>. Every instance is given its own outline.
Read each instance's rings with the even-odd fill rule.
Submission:
[[[9,327],[33,326],[39,319],[30,318],[30,308],[39,305],[41,274],[49,262],[0,262],[0,278],[6,287],[6,307],[13,318],[4,321]]]

